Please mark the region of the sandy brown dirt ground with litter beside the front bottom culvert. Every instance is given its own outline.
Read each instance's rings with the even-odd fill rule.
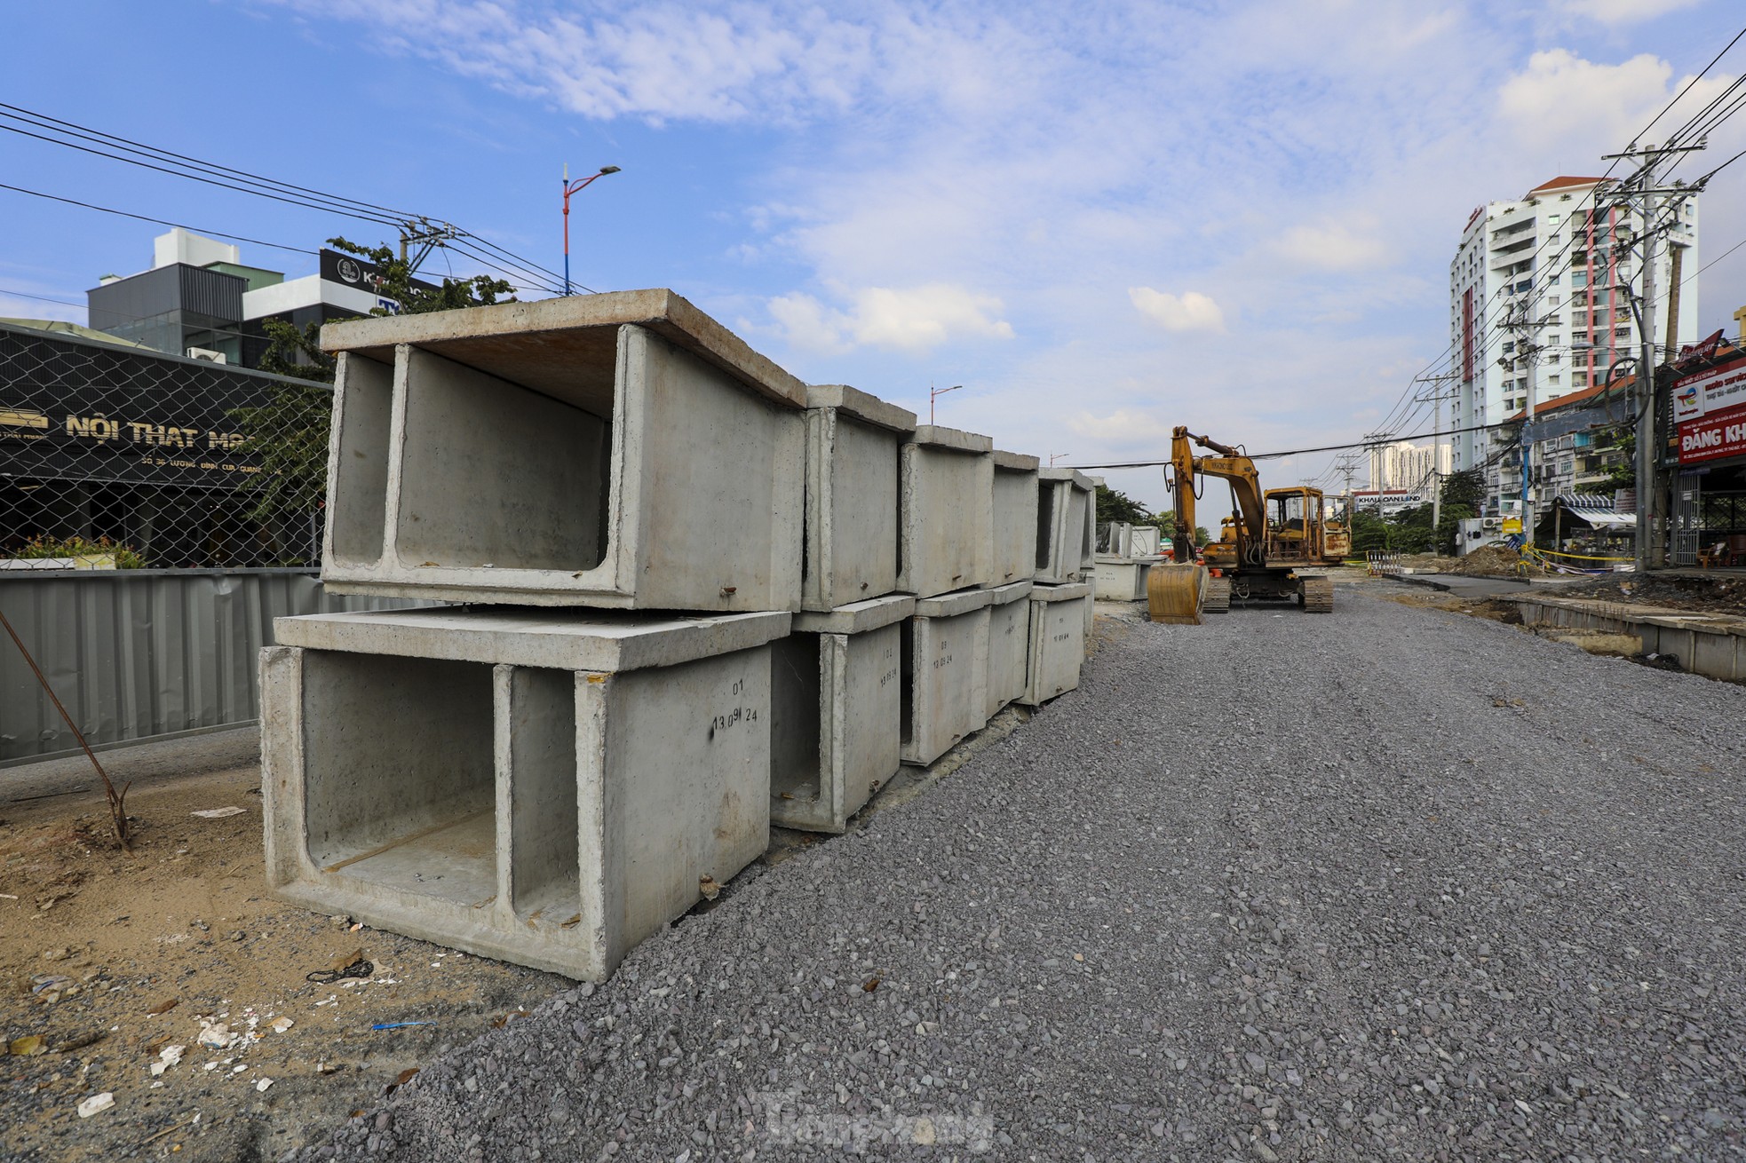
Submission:
[[[136,788],[131,852],[101,796],[0,803],[0,1154],[272,1160],[571,985],[271,899],[258,786]],[[368,976],[306,980],[360,950]]]

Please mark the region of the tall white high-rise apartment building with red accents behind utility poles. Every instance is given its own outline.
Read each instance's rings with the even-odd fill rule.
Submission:
[[[1475,210],[1449,265],[1449,335],[1454,351],[1451,468],[1484,468],[1488,513],[1521,512],[1521,452],[1510,433],[1461,431],[1496,424],[1573,391],[1606,382],[1639,349],[1629,290],[1641,292],[1641,217],[1613,206],[1605,178],[1552,178],[1512,203]],[[1601,204],[1596,208],[1596,194]],[[1657,342],[1697,339],[1697,196],[1657,220],[1669,229],[1655,246]],[[1667,335],[1667,290],[1674,250],[1685,281],[1678,335]],[[1535,498],[1545,503],[1549,498]]]

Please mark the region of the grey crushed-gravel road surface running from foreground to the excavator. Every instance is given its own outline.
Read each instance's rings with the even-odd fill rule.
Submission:
[[[1746,1153],[1746,690],[1344,590],[1116,639],[309,1154]]]

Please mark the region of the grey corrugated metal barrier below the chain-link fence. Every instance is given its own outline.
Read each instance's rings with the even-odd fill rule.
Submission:
[[[414,604],[327,594],[313,569],[0,571],[0,609],[93,747],[255,721],[274,618]],[[77,749],[0,636],[0,767]]]

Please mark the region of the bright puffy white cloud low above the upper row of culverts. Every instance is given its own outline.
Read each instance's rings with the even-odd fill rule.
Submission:
[[[770,314],[787,342],[826,353],[882,348],[922,354],[960,339],[1013,339],[1013,325],[997,318],[1000,309],[993,295],[946,283],[904,290],[868,286],[852,295],[847,311],[807,293],[770,300]]]

